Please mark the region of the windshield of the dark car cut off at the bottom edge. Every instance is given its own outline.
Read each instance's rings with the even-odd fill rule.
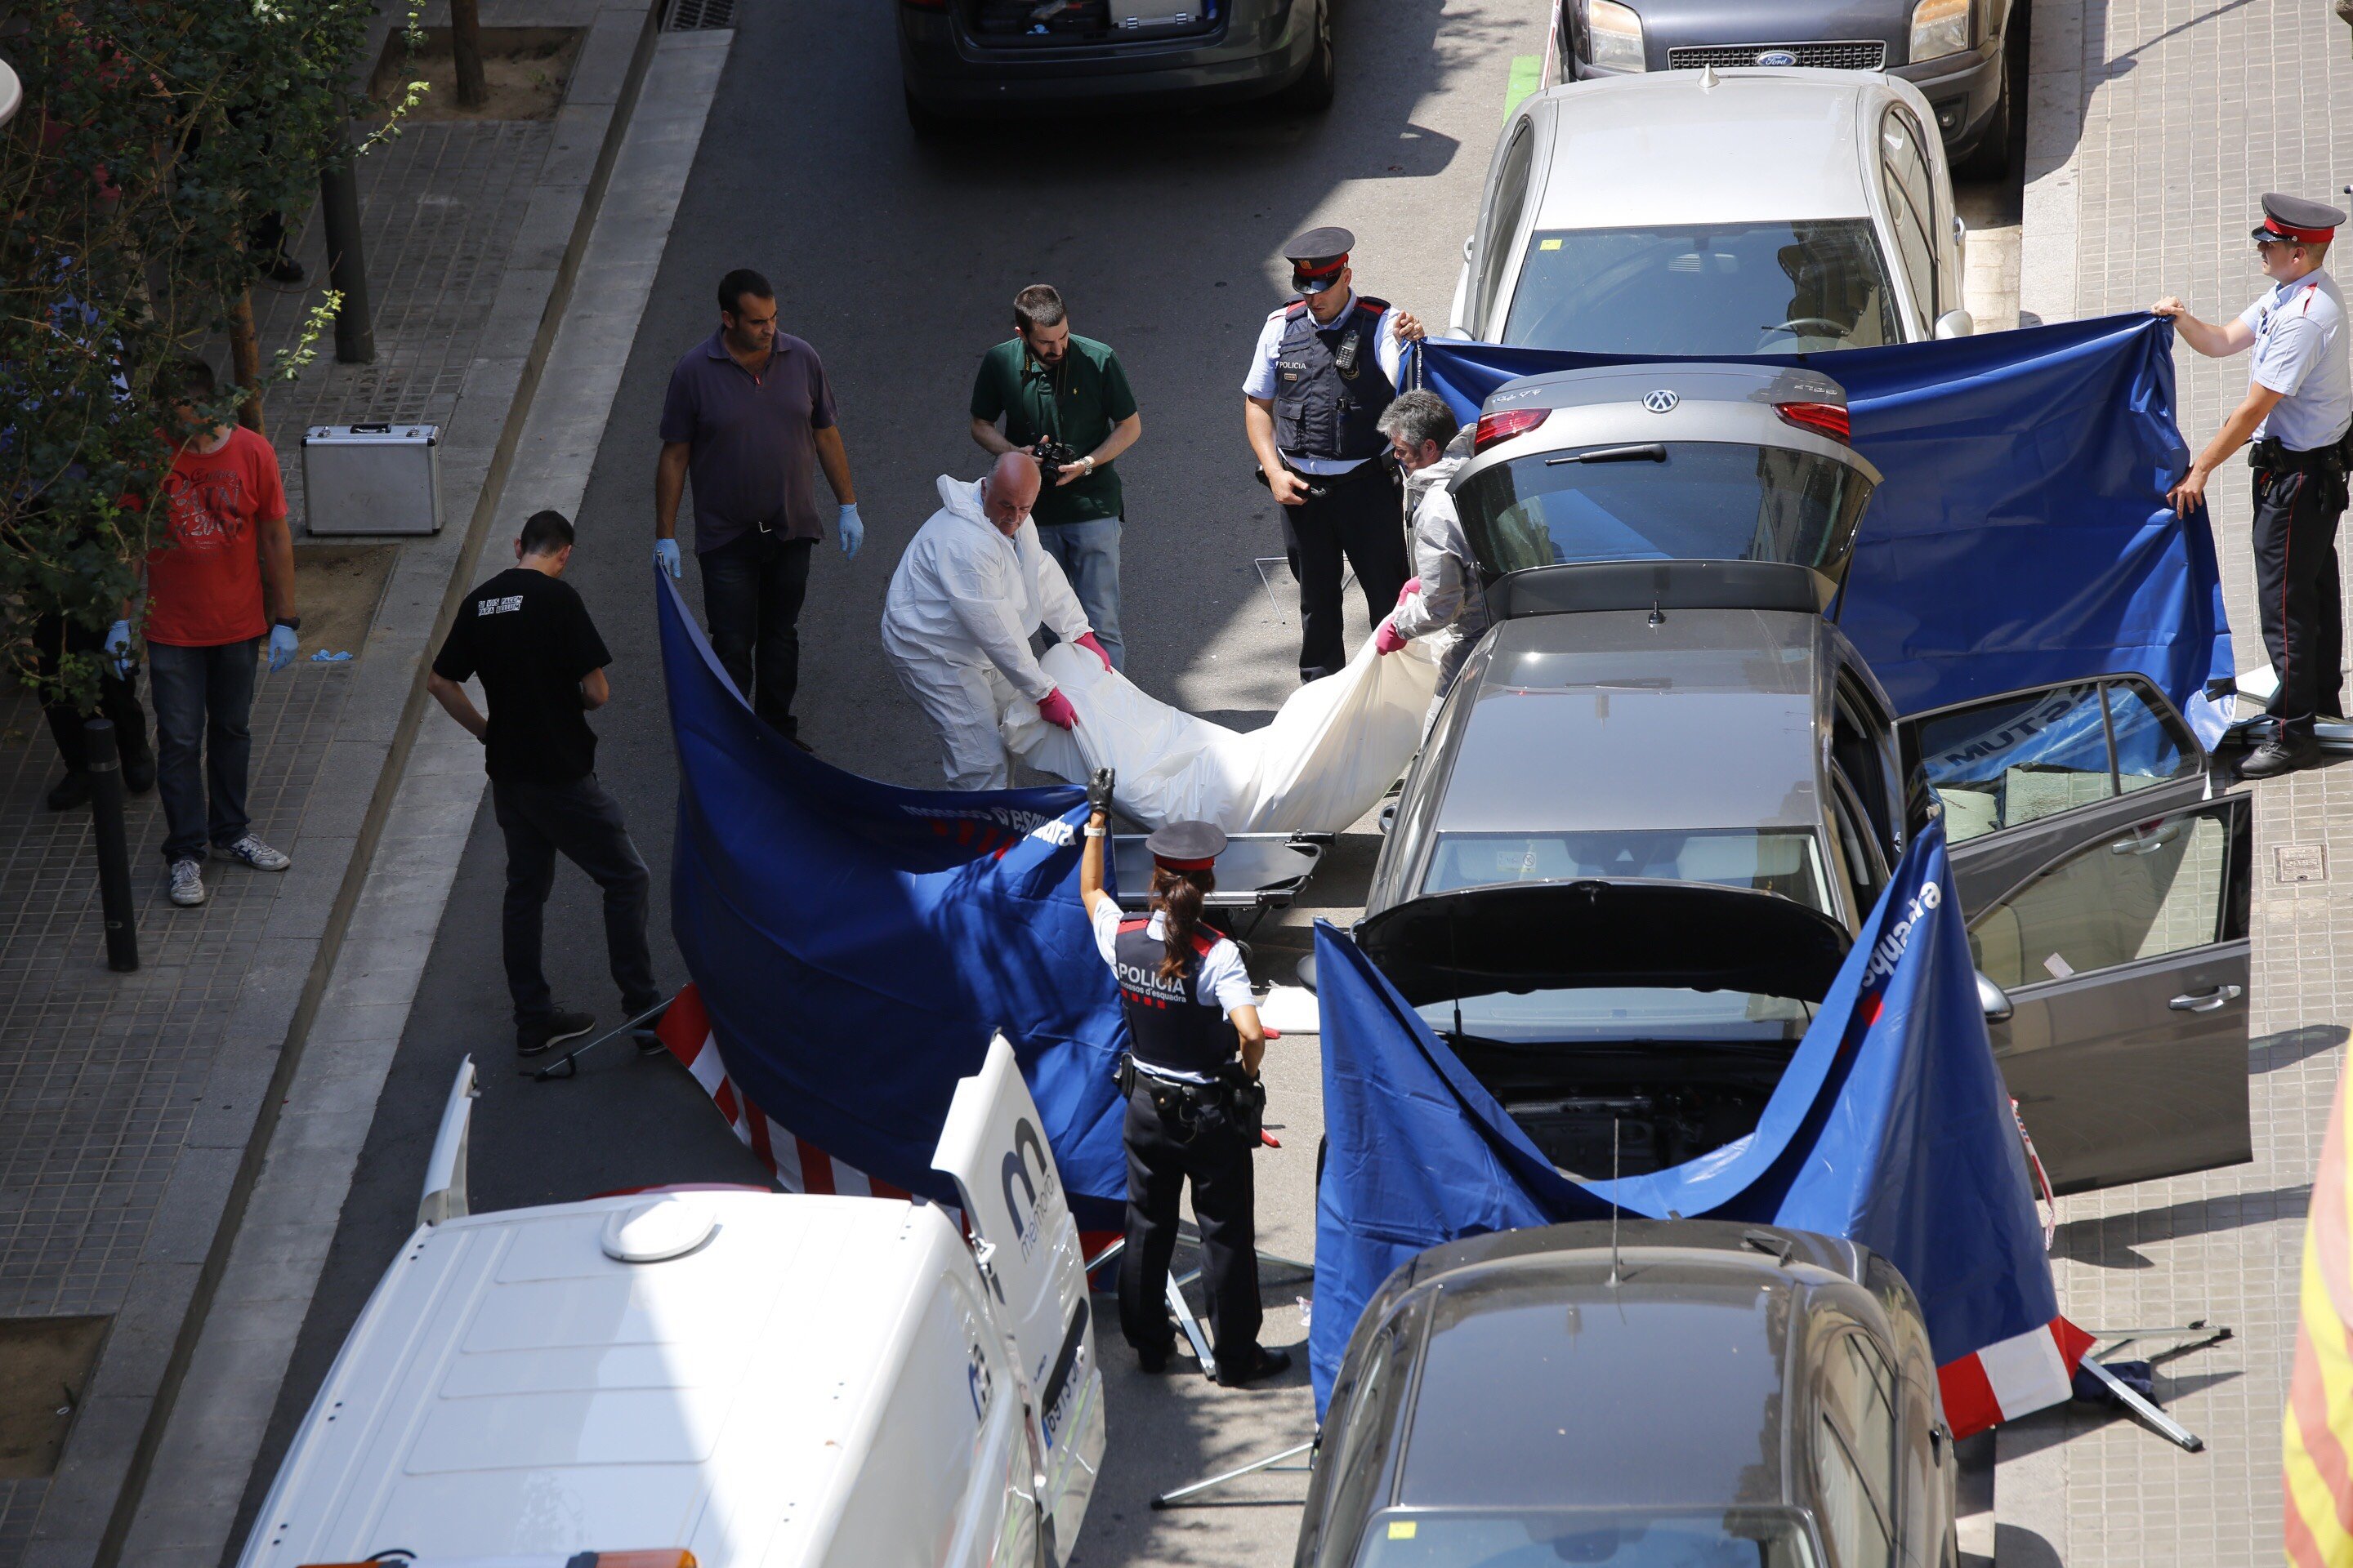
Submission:
[[[1791,1509],[1635,1514],[1598,1509],[1384,1509],[1355,1568],[1812,1568]]]

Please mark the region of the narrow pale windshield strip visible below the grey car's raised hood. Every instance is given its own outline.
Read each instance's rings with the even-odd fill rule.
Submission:
[[[1814,1004],[1760,992],[1704,992],[1682,985],[1586,985],[1577,990],[1489,992],[1426,1001],[1414,1011],[1433,1034],[1475,1034],[1506,1046],[1548,1046],[1584,1039],[1706,1039],[1798,1041],[1814,1023]]]

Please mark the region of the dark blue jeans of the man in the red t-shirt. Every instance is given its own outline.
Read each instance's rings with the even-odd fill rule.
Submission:
[[[209,649],[148,644],[165,860],[202,860],[207,839],[226,849],[252,825],[245,780],[254,759],[259,654],[259,637]]]

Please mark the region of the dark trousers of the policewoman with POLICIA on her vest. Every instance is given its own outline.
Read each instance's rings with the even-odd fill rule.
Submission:
[[[1259,1342],[1259,1251],[1252,1215],[1249,1143],[1233,1121],[1186,1121],[1176,1098],[1151,1084],[1127,1095],[1127,1248],[1120,1251],[1120,1333],[1136,1349],[1167,1352],[1169,1258],[1176,1255],[1176,1199],[1193,1182],[1200,1267],[1219,1359],[1249,1356]]]

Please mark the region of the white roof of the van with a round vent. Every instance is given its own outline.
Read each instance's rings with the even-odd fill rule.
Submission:
[[[619,1262],[616,1197],[445,1220],[402,1246],[296,1436],[247,1568],[685,1547],[800,1561],[861,1415],[962,1241],[934,1206],[689,1192],[713,1227]],[[845,1462],[849,1460],[849,1462]]]

